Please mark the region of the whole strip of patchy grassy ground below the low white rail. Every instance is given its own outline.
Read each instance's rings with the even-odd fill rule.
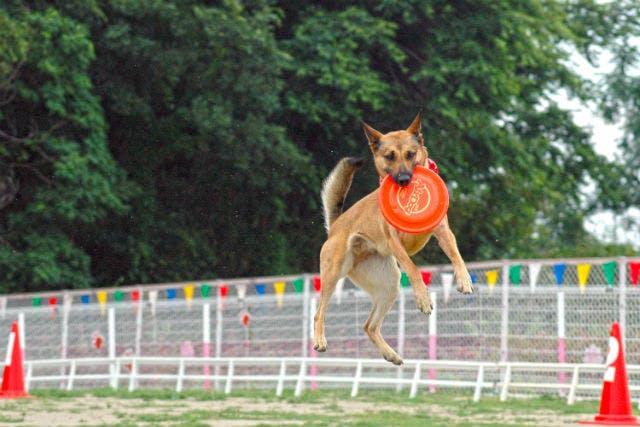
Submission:
[[[592,419],[598,402],[568,406],[544,396],[499,402],[449,391],[409,399],[406,393],[362,390],[292,392],[245,391],[229,396],[209,392],[172,391],[34,391],[30,399],[0,401],[0,426],[572,426]]]

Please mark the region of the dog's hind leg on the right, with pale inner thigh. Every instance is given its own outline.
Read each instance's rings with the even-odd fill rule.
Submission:
[[[371,313],[364,324],[364,331],[380,350],[382,357],[395,365],[402,365],[402,358],[382,337],[384,317],[396,300],[400,286],[400,270],[392,257],[370,255],[361,261],[349,277],[367,291],[371,297]]]

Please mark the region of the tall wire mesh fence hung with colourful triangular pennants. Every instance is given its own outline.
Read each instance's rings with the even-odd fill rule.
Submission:
[[[476,286],[471,296],[451,291],[449,265],[426,266],[433,314],[421,314],[403,286],[382,333],[405,360],[599,366],[611,322],[619,321],[633,365],[640,360],[638,266],[625,258],[469,263]],[[314,275],[304,274],[0,297],[0,349],[10,322],[20,319],[25,360],[34,363],[148,356],[380,358],[362,331],[369,298],[349,282],[329,307],[327,353],[313,351],[314,282]],[[531,375],[568,390],[572,369]],[[530,380],[519,375],[513,383]],[[584,375],[600,383],[601,375]],[[640,378],[630,385],[635,390]]]

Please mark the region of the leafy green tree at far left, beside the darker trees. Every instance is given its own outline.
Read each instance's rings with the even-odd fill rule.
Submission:
[[[89,32],[54,9],[0,8],[0,23],[0,175],[19,186],[0,211],[0,286],[88,287],[88,241],[127,210]]]

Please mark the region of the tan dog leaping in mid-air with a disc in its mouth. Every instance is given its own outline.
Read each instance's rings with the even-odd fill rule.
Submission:
[[[406,130],[386,134],[363,122],[375,168],[381,179],[391,175],[399,186],[404,187],[411,182],[413,168],[427,164],[429,152],[424,145],[421,121],[420,112]],[[323,183],[321,197],[328,238],[320,251],[322,287],[314,317],[313,348],[318,352],[327,350],[327,305],[338,280],[347,276],[371,298],[371,313],[364,323],[364,331],[387,361],[401,365],[402,358],[380,333],[382,321],[399,292],[401,273],[398,264],[409,277],[418,309],[427,315],[433,309],[429,290],[410,257],[420,251],[432,235],[436,236],[440,247],[451,260],[456,289],[469,294],[473,292],[473,286],[447,216],[433,231],[421,234],[401,232],[382,216],[378,208],[377,189],[342,212],[353,175],[363,162],[363,159],[353,157],[340,160]]]

